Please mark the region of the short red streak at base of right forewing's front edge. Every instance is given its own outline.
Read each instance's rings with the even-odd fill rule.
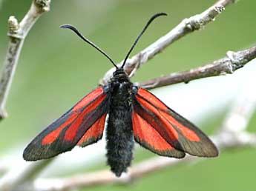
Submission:
[[[161,110],[168,110],[168,107],[162,101],[160,101],[156,96],[148,92],[148,90],[139,88],[138,94],[142,96],[142,98],[145,98],[147,101],[149,101],[151,104],[154,104],[154,106],[160,108]]]

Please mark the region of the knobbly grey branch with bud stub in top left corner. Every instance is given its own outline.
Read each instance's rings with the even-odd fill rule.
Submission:
[[[4,61],[4,68],[1,72],[0,79],[0,120],[7,116],[5,112],[5,104],[13,81],[13,76],[19,61],[19,55],[22,45],[30,28],[33,27],[36,20],[50,10],[50,0],[33,0],[30,10],[19,23],[14,16],[10,16],[8,20],[8,36],[10,38],[7,47],[7,55]]]

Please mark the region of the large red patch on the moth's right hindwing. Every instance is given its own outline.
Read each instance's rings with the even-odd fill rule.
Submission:
[[[174,149],[174,147],[171,147],[171,145],[137,113],[132,113],[132,123],[134,137],[149,144],[154,150],[165,151]]]

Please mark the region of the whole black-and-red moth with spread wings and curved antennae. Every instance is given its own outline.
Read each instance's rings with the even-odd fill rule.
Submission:
[[[168,157],[183,158],[186,153],[200,157],[218,155],[207,135],[148,90],[135,86],[123,69],[151,22],[166,15],[157,13],[148,20],[121,67],[117,67],[103,50],[82,36],[75,27],[62,25],[108,58],[116,71],[107,85],[96,87],[36,136],[24,150],[24,160],[51,158],[72,150],[76,145],[85,147],[96,143],[102,138],[104,127],[108,165],[118,177],[131,165],[134,140],[145,149]]]

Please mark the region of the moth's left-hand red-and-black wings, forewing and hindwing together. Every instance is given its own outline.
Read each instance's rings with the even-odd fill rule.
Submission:
[[[79,145],[85,147],[102,138],[108,113],[108,87],[97,87],[67,113],[28,144],[23,153],[26,161],[51,158]]]

